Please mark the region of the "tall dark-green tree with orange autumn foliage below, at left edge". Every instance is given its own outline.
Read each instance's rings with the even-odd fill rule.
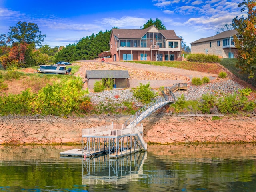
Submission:
[[[38,26],[19,21],[9,28],[10,32],[0,35],[0,62],[4,68],[9,66],[29,67],[36,65],[33,51],[44,42]]]

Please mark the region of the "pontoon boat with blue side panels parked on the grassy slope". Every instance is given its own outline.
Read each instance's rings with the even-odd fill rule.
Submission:
[[[37,72],[45,74],[70,74],[71,68],[66,69],[66,66],[54,65],[40,65]]]

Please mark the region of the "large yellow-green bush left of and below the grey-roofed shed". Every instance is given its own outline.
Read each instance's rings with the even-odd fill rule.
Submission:
[[[76,78],[48,84],[38,92],[32,105],[35,114],[67,115],[80,111],[80,104],[88,102],[88,90],[82,90],[82,79]]]

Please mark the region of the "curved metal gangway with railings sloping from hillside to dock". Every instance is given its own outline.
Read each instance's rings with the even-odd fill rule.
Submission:
[[[126,122],[124,123],[124,128],[136,126],[140,121],[142,121],[144,118],[146,118],[162,106],[174,101],[175,97],[174,94],[172,94],[158,98],[150,102],[149,104],[144,105],[140,110],[136,112],[136,114],[134,114],[128,120],[126,120]]]

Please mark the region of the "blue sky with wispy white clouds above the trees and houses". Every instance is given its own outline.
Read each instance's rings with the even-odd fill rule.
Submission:
[[[242,0],[0,0],[0,34],[18,21],[38,25],[42,44],[66,46],[113,26],[139,29],[159,18],[189,43],[214,36],[223,24],[240,17]]]

